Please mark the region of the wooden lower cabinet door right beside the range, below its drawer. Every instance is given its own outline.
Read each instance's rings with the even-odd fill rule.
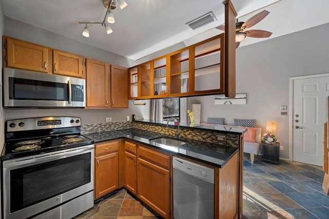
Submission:
[[[95,199],[119,187],[119,152],[95,158]]]

